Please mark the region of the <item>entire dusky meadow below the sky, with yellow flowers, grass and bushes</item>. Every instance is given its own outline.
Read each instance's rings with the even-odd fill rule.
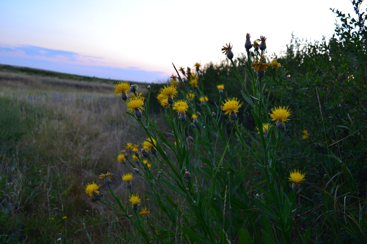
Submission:
[[[366,243],[360,3],[330,39],[247,34],[165,84],[1,71],[1,242]]]

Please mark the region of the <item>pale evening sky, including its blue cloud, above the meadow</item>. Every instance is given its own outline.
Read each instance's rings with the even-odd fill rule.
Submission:
[[[0,64],[138,82],[166,81],[178,68],[245,52],[264,35],[280,55],[291,34],[321,40],[334,33],[349,0],[14,0],[0,3]]]

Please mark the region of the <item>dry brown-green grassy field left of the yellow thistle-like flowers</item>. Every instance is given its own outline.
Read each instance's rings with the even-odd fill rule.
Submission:
[[[83,194],[101,172],[127,172],[117,153],[142,134],[112,88],[0,72],[0,242],[121,240],[125,220]]]

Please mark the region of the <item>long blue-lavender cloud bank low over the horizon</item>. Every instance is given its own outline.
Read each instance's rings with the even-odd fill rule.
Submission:
[[[105,61],[103,57],[32,45],[0,45],[0,63],[140,82],[157,82],[166,79],[164,72],[145,71],[139,67],[119,68],[116,64]]]

